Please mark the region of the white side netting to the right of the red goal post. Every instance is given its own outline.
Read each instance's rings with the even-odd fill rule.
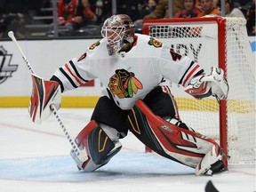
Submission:
[[[255,64],[245,20],[226,21],[228,95],[228,150],[235,163],[255,164]]]

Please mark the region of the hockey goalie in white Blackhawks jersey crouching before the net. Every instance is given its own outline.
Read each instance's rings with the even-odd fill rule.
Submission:
[[[79,59],[57,69],[50,81],[34,84],[29,110],[32,120],[41,122],[50,116],[51,104],[59,108],[61,92],[99,78],[103,96],[91,122],[75,140],[84,155],[77,156],[74,149],[70,152],[80,170],[93,172],[108,164],[130,131],[160,156],[195,168],[196,175],[225,171],[220,146],[182,122],[168,84],[184,86],[197,99],[213,96],[225,100],[228,83],[223,70],[212,67],[211,73],[205,74],[198,63],[155,38],[135,34],[128,15],[105,20],[101,35],[103,38]]]

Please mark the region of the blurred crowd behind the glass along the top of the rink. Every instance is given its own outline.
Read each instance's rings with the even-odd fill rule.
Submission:
[[[52,37],[56,26],[61,37],[100,36],[113,12],[128,14],[137,33],[149,19],[223,16],[220,0],[172,0],[172,7],[168,0],[0,0],[0,39],[10,30],[20,39]],[[255,0],[226,0],[224,14],[244,17],[248,35],[255,36]]]

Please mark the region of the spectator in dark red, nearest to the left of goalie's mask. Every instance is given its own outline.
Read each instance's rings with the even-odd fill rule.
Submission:
[[[97,21],[97,17],[94,12],[92,12],[91,5],[89,4],[89,0],[80,0],[77,7],[77,16],[82,17],[81,23],[79,23],[79,27],[84,27],[88,24],[95,24]]]

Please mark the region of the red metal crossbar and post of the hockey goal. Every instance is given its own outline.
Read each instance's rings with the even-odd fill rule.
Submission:
[[[168,25],[168,23],[187,23],[188,22],[215,22],[218,25],[218,62],[219,68],[224,70],[224,76],[227,76],[227,44],[226,44],[226,19],[222,17],[204,17],[189,19],[159,19],[145,20],[142,27],[142,34],[149,35],[150,26]],[[227,118],[227,100],[220,100],[220,148],[225,155],[228,155],[228,118]],[[227,156],[223,156],[223,161],[228,166]]]

